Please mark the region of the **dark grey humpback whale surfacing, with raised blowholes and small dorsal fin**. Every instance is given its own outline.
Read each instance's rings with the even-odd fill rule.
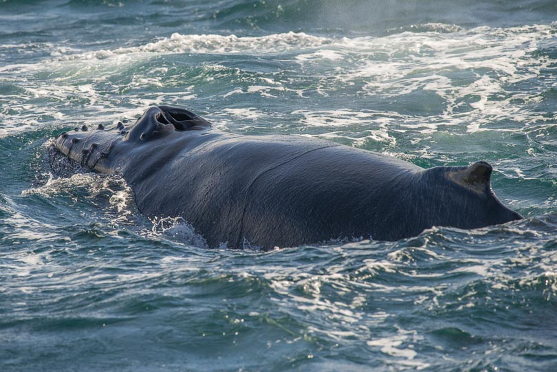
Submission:
[[[522,218],[494,195],[487,162],[424,169],[315,138],[218,131],[175,107],[150,107],[129,126],[62,133],[55,146],[122,175],[144,215],[182,217],[209,247],[395,241]]]

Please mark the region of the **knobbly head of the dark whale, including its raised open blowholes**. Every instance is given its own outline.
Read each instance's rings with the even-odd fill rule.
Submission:
[[[113,153],[125,153],[138,146],[183,135],[185,131],[209,129],[210,122],[195,113],[170,106],[150,107],[131,125],[122,122],[111,127],[75,128],[61,133],[55,140],[56,149],[89,169],[110,172],[114,164],[107,159]]]

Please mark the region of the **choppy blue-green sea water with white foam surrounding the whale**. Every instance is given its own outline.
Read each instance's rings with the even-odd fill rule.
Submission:
[[[0,371],[557,371],[557,3],[0,1]],[[523,221],[208,250],[83,124],[177,105],[419,166],[487,160]]]

